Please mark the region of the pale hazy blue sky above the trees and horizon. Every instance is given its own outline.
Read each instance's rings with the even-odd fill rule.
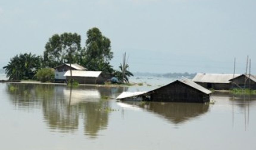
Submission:
[[[18,53],[43,54],[55,33],[98,27],[110,38],[114,68],[130,71],[256,74],[255,0],[1,0],[0,66]]]

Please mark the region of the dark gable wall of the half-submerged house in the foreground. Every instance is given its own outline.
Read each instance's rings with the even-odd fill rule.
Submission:
[[[210,95],[181,82],[173,82],[170,85],[154,90],[154,92],[150,94],[150,100],[203,103],[210,101]]]

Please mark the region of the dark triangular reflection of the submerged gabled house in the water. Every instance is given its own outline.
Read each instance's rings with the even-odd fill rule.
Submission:
[[[147,111],[154,112],[161,117],[171,121],[174,124],[183,124],[192,118],[206,113],[209,110],[209,104],[201,103],[170,103],[170,102],[123,102],[136,105]]]

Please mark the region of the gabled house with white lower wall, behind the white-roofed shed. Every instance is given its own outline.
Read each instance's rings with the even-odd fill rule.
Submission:
[[[87,70],[86,68],[84,68],[81,65],[78,64],[71,64],[71,68],[70,68],[70,64],[68,63],[64,63],[62,65],[59,65],[57,67],[54,68],[55,69],[55,81],[66,81],[66,77],[64,76],[64,74],[66,73],[66,71],[72,69],[72,70]]]

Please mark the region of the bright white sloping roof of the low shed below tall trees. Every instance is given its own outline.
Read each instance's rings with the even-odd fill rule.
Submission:
[[[82,77],[98,77],[101,71],[82,71],[82,70],[72,70],[72,76],[82,76]],[[70,76],[70,70],[68,70],[64,76]]]

